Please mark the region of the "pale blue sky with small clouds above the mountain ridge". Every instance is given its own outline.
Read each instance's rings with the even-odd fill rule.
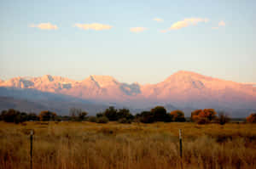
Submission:
[[[0,78],[256,82],[255,0],[1,0]]]

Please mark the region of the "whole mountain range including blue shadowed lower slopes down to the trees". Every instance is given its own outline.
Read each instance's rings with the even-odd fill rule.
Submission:
[[[224,81],[183,70],[163,82],[147,85],[119,82],[112,76],[89,76],[83,81],[73,81],[45,75],[0,80],[0,87],[0,100],[9,97],[21,99],[23,103],[26,99],[43,105],[42,109],[58,110],[64,114],[67,114],[70,106],[79,106],[95,113],[110,104],[133,110],[149,109],[160,104],[166,105],[168,110],[187,110],[188,115],[190,110],[204,108],[225,110],[234,116],[245,116],[256,110],[256,87],[253,83]],[[5,104],[1,102],[0,109],[7,109],[6,104],[14,100],[10,99]],[[10,104],[9,108],[12,108],[11,105],[14,104]]]

